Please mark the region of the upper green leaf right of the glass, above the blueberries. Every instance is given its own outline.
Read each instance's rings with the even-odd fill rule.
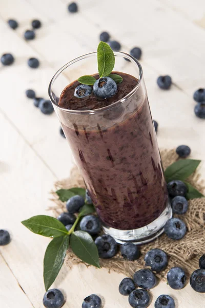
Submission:
[[[193,174],[200,162],[200,160],[185,159],[173,163],[165,170],[166,181],[186,180],[191,174]]]

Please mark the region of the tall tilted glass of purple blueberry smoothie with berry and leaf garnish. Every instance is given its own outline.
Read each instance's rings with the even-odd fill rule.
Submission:
[[[146,243],[172,211],[141,65],[106,45],[63,66],[49,95],[104,232]]]

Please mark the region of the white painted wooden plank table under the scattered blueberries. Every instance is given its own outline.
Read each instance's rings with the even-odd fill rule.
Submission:
[[[193,91],[205,86],[204,0],[78,0],[79,13],[69,14],[67,0],[1,0],[0,54],[11,52],[15,63],[0,68],[1,84],[1,215],[0,227],[9,230],[12,241],[0,248],[0,307],[43,307],[43,257],[48,238],[29,232],[20,221],[46,213],[49,191],[57,179],[67,177],[72,167],[70,149],[60,137],[55,114],[46,117],[25,97],[33,88],[48,98],[50,79],[74,57],[95,51],[98,35],[108,30],[123,51],[142,48],[141,60],[153,118],[158,121],[160,147],[188,144],[192,158],[205,158],[204,120],[195,117]],[[16,18],[15,31],[6,24]],[[30,21],[39,18],[43,27],[36,39],[25,42],[23,33]],[[30,69],[29,57],[40,60]],[[129,65],[125,63],[125,65]],[[159,74],[170,74],[173,86],[162,91]],[[201,164],[205,178],[205,164]],[[105,269],[65,266],[53,287],[67,296],[65,308],[81,307],[83,298],[96,293],[105,308],[129,307],[118,293],[123,278]],[[177,307],[204,307],[204,294],[188,285],[173,291],[161,282],[152,291],[174,297]]]

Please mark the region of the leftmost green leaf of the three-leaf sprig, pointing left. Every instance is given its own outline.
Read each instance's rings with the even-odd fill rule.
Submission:
[[[33,233],[47,237],[68,235],[68,230],[63,223],[56,218],[47,215],[33,216],[22,221],[22,224]]]

